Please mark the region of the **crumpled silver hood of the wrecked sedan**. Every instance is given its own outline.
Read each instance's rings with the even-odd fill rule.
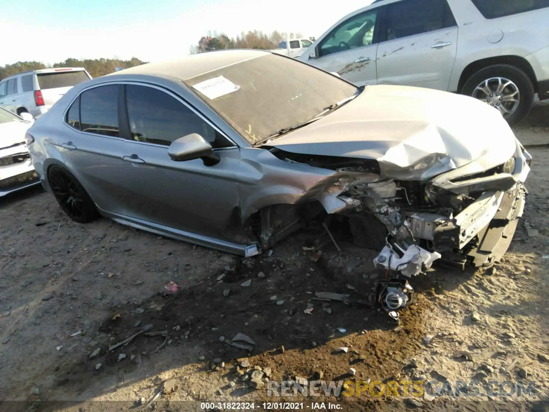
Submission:
[[[476,99],[426,88],[368,86],[343,107],[266,143],[287,152],[376,159],[382,175],[428,180],[478,163],[507,162],[517,148],[501,114]]]

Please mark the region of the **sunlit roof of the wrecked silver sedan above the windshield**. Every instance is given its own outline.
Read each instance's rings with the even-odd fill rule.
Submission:
[[[231,49],[208,53],[191,54],[169,62],[146,63],[129,69],[115,71],[107,76],[125,76],[128,74],[141,74],[152,76],[175,77],[179,80],[188,80],[221,69],[226,66],[245,62],[246,60],[262,57],[270,52],[257,49]],[[283,58],[283,57],[281,57]]]

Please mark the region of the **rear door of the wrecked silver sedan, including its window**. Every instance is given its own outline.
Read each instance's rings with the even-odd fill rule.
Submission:
[[[99,208],[124,215],[132,191],[124,185],[131,168],[122,161],[126,141],[120,137],[117,110],[121,87],[110,84],[80,93],[65,118],[72,131],[52,140],[63,163]]]

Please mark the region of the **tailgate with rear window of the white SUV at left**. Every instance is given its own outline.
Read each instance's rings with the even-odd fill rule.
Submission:
[[[89,80],[84,70],[55,69],[49,73],[37,73],[38,90],[42,91],[44,105],[51,106],[72,86]]]

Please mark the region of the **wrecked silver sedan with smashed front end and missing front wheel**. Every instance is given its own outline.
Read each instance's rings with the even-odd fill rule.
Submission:
[[[523,213],[531,157],[470,97],[356,87],[277,54],[219,51],[72,88],[27,133],[74,220],[104,215],[254,255],[322,214],[407,277],[490,265]],[[385,288],[390,309],[408,288]]]

